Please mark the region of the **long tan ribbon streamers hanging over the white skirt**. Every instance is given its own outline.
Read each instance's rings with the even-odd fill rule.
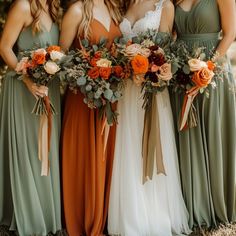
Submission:
[[[157,174],[166,174],[161,147],[159,113],[155,95],[152,96],[151,107],[145,110],[142,155],[143,183],[145,183],[148,179],[151,180],[153,177],[155,158]]]

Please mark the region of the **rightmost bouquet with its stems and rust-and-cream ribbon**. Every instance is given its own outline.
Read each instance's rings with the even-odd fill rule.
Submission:
[[[172,80],[173,89],[184,91],[185,97],[181,111],[180,130],[197,125],[197,114],[193,101],[198,94],[209,97],[209,86],[216,87],[215,79],[222,79],[223,61],[207,60],[204,48],[188,50],[183,43],[174,46],[178,71]]]

